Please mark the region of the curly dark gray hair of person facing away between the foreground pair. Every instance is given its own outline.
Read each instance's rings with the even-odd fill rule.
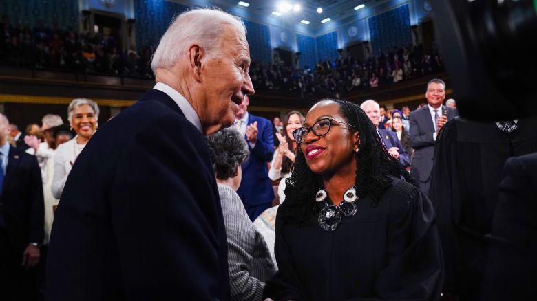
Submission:
[[[216,178],[225,180],[237,175],[237,168],[249,156],[248,146],[235,128],[227,128],[205,137]]]

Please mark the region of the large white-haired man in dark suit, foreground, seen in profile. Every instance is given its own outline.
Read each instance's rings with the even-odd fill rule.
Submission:
[[[151,67],[156,85],[76,159],[54,217],[49,300],[229,300],[227,241],[203,135],[253,94],[240,19],[180,14]]]

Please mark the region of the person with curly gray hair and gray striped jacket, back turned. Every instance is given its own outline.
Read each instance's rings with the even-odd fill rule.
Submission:
[[[231,299],[262,300],[265,282],[276,267],[263,236],[253,227],[235,192],[242,179],[241,164],[249,156],[248,146],[233,128],[207,136],[207,144],[224,214]]]

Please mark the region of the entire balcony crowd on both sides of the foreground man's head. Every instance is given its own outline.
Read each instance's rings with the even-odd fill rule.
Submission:
[[[39,21],[33,29],[18,23],[0,23],[0,65],[65,69],[97,74],[154,78],[151,56],[154,47],[121,50],[120,34],[103,36],[52,28]],[[291,91],[304,97],[339,97],[353,89],[387,87],[394,82],[443,70],[438,51],[425,54],[423,45],[394,47],[371,54],[366,60],[342,54],[319,60],[313,69],[296,69],[284,63],[253,62],[250,75],[256,89]]]

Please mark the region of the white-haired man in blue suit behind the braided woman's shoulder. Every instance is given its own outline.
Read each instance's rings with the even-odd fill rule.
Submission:
[[[370,99],[362,102],[360,108],[366,112],[373,125],[377,128],[377,131],[379,131],[379,136],[384,146],[386,146],[388,153],[395,159],[399,159],[401,165],[408,166],[410,164],[410,156],[401,145],[401,142],[399,142],[399,139],[397,139],[397,135],[392,131],[379,129],[379,120],[381,118],[379,104],[375,100]]]

